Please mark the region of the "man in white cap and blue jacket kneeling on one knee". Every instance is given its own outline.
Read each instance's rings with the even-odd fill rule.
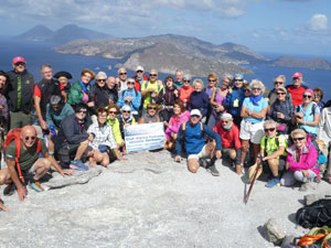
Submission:
[[[210,127],[201,122],[202,115],[199,109],[191,111],[190,121],[181,125],[177,141],[175,141],[175,162],[180,162],[182,147],[185,149],[188,154],[188,168],[192,173],[196,173],[200,164],[200,159],[211,158],[211,164],[207,170],[212,175],[218,176],[220,173],[215,166],[216,159],[221,159],[222,142],[218,133],[214,132]],[[204,133],[210,136],[215,142],[204,142]]]

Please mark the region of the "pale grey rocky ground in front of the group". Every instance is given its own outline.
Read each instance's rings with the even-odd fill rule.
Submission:
[[[29,190],[23,203],[17,193],[2,196],[10,212],[0,212],[0,247],[273,247],[263,225],[274,218],[287,235],[305,234],[293,222],[303,196],[331,188],[322,182],[302,193],[258,181],[245,205],[245,176],[221,160],[214,177],[202,168],[189,173],[166,151],[127,158],[74,177],[53,173],[49,190]]]

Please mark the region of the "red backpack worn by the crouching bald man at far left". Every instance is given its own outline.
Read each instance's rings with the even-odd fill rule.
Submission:
[[[19,179],[21,180],[22,183],[24,183],[24,177],[22,175],[21,172],[21,166],[19,163],[19,159],[20,159],[20,153],[21,153],[21,128],[14,128],[9,130],[3,148],[4,150],[7,150],[7,148],[9,147],[9,144],[14,140],[15,141],[15,164],[19,171]],[[41,152],[41,142],[38,138],[35,138],[35,143],[36,143],[36,153]]]

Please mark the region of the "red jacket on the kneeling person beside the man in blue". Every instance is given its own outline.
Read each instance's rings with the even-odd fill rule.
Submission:
[[[218,121],[216,126],[213,128],[215,132],[221,136],[222,139],[222,148],[235,148],[236,150],[242,148],[242,142],[239,140],[239,130],[235,123],[232,125],[231,130],[225,130],[222,127],[222,122]]]

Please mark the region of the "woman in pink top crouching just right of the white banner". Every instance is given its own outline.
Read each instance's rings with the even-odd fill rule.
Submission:
[[[175,144],[177,133],[182,123],[189,121],[190,112],[185,110],[183,104],[180,100],[175,100],[173,104],[174,115],[170,118],[169,123],[163,121],[166,129],[166,144],[164,150],[172,150]]]

